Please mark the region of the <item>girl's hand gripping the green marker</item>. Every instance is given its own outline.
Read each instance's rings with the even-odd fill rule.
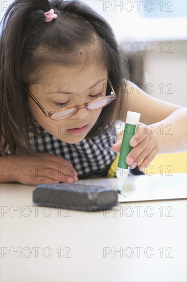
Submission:
[[[116,135],[116,143],[112,146],[114,152],[120,152],[123,134],[119,132]],[[139,123],[136,133],[130,139],[130,145],[133,147],[127,155],[126,163],[131,169],[135,168],[140,162],[139,170],[143,171],[154,159],[158,152],[158,138],[154,133],[153,126]]]

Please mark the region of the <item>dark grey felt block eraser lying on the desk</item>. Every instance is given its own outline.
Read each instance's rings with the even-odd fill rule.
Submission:
[[[33,190],[33,203],[38,206],[97,211],[118,203],[112,188],[77,183],[40,184]]]

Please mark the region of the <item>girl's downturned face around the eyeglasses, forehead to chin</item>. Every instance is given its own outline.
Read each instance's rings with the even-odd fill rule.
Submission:
[[[75,72],[77,72],[75,74]],[[30,92],[44,109],[55,111],[65,107],[83,105],[106,95],[108,74],[93,66],[79,73],[78,68],[53,66],[30,86]],[[94,86],[95,85],[95,86]],[[71,94],[62,93],[71,92]],[[29,96],[30,111],[37,123],[59,140],[74,144],[85,138],[102,111],[79,109],[74,115],[61,120],[45,117]]]

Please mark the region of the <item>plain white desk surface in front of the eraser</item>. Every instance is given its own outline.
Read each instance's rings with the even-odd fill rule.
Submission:
[[[186,281],[185,199],[81,212],[34,206],[34,188],[1,184],[2,282]]]

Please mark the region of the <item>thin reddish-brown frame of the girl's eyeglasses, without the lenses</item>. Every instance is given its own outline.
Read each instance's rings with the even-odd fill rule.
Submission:
[[[73,107],[66,107],[66,108],[64,108],[64,109],[58,109],[58,110],[55,110],[55,111],[49,111],[49,110],[47,110],[47,109],[44,109],[44,108],[41,106],[41,104],[38,102],[38,100],[37,100],[26,88],[25,88],[25,90],[28,92],[28,94],[29,94],[30,97],[33,99],[33,101],[36,103],[36,105],[40,108],[40,110],[44,113],[44,115],[45,115],[46,117],[51,118],[54,113],[57,113],[57,112],[63,111],[63,110],[67,110],[67,109],[76,108],[76,112],[77,112],[77,111],[80,110],[80,109],[86,108],[87,110],[94,111],[94,110],[98,110],[98,109],[101,109],[101,108],[104,108],[104,107],[108,106],[108,105],[116,98],[115,90],[113,89],[113,86],[112,86],[112,84],[111,84],[109,78],[108,78],[108,83],[109,83],[109,86],[110,86],[110,90],[112,90],[112,91],[110,92],[110,95],[105,95],[104,97],[99,97],[99,98],[93,99],[93,100],[91,100],[91,101],[89,101],[89,102],[87,102],[87,103],[84,103],[83,105],[78,105],[78,106],[73,106]],[[90,103],[95,102],[95,101],[98,101],[98,100],[101,100],[101,99],[106,98],[106,97],[110,97],[110,98],[112,98],[112,100],[111,100],[108,104],[106,104],[104,107],[99,107],[99,108],[96,108],[96,109],[93,109],[93,110],[87,108],[87,106],[88,106]],[[75,113],[76,113],[76,112],[75,112]],[[75,113],[73,113],[73,114],[71,114],[71,115],[69,115],[69,116],[72,116],[72,115],[74,115]],[[53,118],[51,118],[51,119],[52,119],[52,120],[61,120],[61,119],[65,119],[65,118],[67,118],[67,117],[69,117],[69,116],[62,117],[62,118],[59,118],[59,119],[53,119]]]

